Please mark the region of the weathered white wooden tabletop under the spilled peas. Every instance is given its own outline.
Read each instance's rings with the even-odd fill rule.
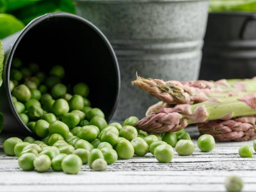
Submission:
[[[243,191],[256,191],[256,157],[241,158],[238,149],[250,142],[216,143],[213,151],[201,152],[196,145],[198,131],[187,129],[195,142],[191,156],[175,152],[172,163],[158,163],[148,153],[145,157],[118,160],[106,172],[94,172],[84,165],[78,175],[63,172],[24,172],[16,157],[3,153],[0,144],[0,191],[225,191],[224,179],[240,175]],[[3,141],[3,135],[0,136]],[[1,142],[2,143],[2,142]]]

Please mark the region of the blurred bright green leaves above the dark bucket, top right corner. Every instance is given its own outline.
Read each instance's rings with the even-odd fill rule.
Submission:
[[[256,12],[256,0],[211,0],[209,11]]]

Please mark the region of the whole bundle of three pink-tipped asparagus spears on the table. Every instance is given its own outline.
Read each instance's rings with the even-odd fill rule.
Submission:
[[[256,79],[165,82],[137,76],[132,83],[162,100],[137,123],[144,131],[179,131],[196,124],[219,140],[256,137]]]

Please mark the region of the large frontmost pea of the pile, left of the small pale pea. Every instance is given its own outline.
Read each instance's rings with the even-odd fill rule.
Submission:
[[[76,154],[69,154],[61,162],[61,168],[65,173],[77,174],[83,163],[81,158]]]

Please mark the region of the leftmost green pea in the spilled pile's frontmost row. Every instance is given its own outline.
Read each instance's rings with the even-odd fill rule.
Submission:
[[[34,159],[36,155],[33,153],[24,153],[18,158],[18,164],[24,171],[31,171],[34,169]]]

